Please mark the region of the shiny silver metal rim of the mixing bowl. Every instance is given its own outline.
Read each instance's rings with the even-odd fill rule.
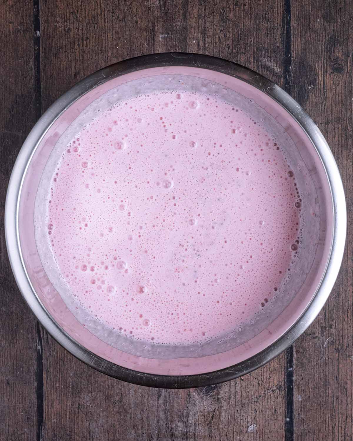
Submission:
[[[112,78],[133,71],[166,66],[199,67],[234,76],[255,86],[285,108],[301,125],[319,154],[331,189],[334,216],[331,252],[326,271],[311,303],[297,322],[273,344],[241,363],[210,373],[188,376],[146,374],[124,368],[95,355],[69,336],[49,315],[30,283],[23,262],[18,231],[19,198],[23,177],[35,149],[53,122],[79,97]],[[240,377],[263,366],[293,344],[319,314],[330,295],[342,262],[345,234],[346,207],[342,179],[325,138],[308,114],[288,93],[262,75],[231,61],[192,53],[165,52],[131,58],[96,71],[75,84],[41,116],[23,143],[11,173],[5,204],[5,235],[11,268],[24,299],[41,325],[72,355],[104,374],[139,385],[173,389],[213,385]]]

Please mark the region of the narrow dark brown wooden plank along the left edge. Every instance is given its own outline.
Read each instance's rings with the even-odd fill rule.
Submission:
[[[12,275],[4,236],[11,168],[35,122],[33,2],[0,6],[0,439],[36,439],[36,321]]]

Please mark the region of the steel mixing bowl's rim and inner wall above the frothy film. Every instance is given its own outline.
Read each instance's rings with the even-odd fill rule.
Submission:
[[[57,140],[103,93],[156,75],[188,75],[233,90],[264,112],[293,144],[315,185],[319,225],[315,253],[293,299],[252,338],[203,357],[145,358],[113,347],[84,328],[45,274],[34,238],[38,183]],[[162,78],[162,76],[161,76]],[[326,302],[342,261],[346,211],[334,157],[311,118],[284,90],[257,73],[219,58],[184,53],[142,56],[106,67],[60,97],[28,135],[11,175],[5,209],[8,254],[26,302],[47,331],[75,357],[132,383],[169,388],[205,386],[240,377],[288,348]]]

